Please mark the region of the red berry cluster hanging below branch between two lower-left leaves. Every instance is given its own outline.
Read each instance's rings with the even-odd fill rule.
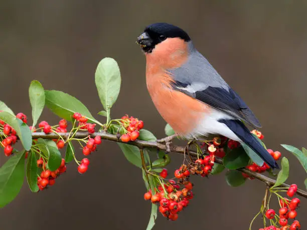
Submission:
[[[62,173],[66,172],[65,160],[62,158],[62,162],[60,167],[55,171],[50,171],[47,169],[47,161],[44,161],[43,158],[37,160],[37,166],[42,168],[41,175],[37,178],[37,185],[39,189],[42,191],[48,186],[52,186],[55,183],[55,179]]]

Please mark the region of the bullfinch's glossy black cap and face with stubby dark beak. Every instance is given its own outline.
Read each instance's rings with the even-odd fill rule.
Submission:
[[[189,35],[179,27],[167,23],[155,23],[147,26],[136,43],[146,53],[151,53],[155,46],[168,38],[180,38],[185,42],[191,41]]]

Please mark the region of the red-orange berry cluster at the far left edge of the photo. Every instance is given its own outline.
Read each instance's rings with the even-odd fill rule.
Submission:
[[[24,123],[27,123],[27,116],[25,114],[18,113],[16,117],[21,119]],[[17,141],[16,131],[2,120],[0,120],[0,131],[3,131],[3,133],[7,136],[2,140],[1,145],[4,147],[5,155],[10,156],[14,152],[13,145]]]

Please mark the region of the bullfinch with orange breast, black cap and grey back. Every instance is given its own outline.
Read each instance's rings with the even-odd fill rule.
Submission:
[[[254,113],[195,48],[187,32],[154,23],[145,27],[136,43],[146,58],[151,100],[175,136],[222,135],[245,143],[271,168],[279,168],[245,125],[261,127]]]

